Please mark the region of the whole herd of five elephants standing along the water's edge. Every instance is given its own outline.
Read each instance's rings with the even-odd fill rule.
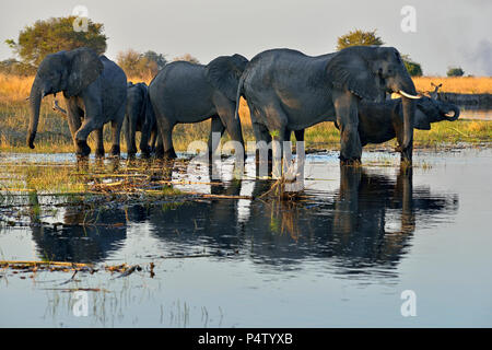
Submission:
[[[292,49],[271,49],[250,61],[241,55],[220,56],[207,66],[187,61],[166,65],[147,86],[127,83],[121,68],[90,48],[48,55],[39,65],[30,95],[27,143],[33,149],[42,98],[62,92],[75,152],[87,156],[87,137],[96,131],[96,156],[104,156],[103,127],[112,122],[112,155],[120,153],[126,120],[127,152],[176,158],[172,132],[176,124],[211,118],[212,133],[244,147],[239,98],[250,113],[257,142],[304,140],[304,130],[333,121],[340,130],[340,162],[360,162],[362,147],[397,138],[402,161],[412,159],[413,129],[456,120],[459,108],[436,96],[418,95],[397,49],[354,46],[335,54],[306,56]],[[396,93],[400,98],[388,100]],[[259,144],[259,143],[258,143]],[[262,143],[263,144],[263,143]]]

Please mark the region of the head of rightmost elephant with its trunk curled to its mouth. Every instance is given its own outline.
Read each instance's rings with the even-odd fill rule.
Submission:
[[[417,102],[414,128],[420,130],[431,130],[431,122],[443,120],[455,121],[458,117],[458,106],[423,96]]]

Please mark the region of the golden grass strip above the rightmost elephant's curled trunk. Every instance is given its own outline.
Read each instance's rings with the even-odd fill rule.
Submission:
[[[434,91],[431,83],[443,84],[440,92],[460,94],[492,94],[492,77],[420,77],[413,78],[415,88],[420,92]]]

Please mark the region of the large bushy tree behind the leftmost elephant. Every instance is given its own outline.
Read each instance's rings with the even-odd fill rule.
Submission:
[[[87,20],[87,30],[75,32],[73,23],[77,16],[39,20],[26,26],[19,34],[17,42],[5,43],[19,55],[23,63],[38,66],[46,55],[78,47],[91,47],[97,54],[106,51],[104,25]]]

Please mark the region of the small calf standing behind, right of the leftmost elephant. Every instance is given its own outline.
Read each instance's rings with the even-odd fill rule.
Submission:
[[[148,102],[147,84],[133,84],[132,82],[128,82],[125,131],[129,156],[133,156],[137,153],[137,145],[134,141],[137,131],[141,132],[140,151],[143,155],[149,155],[151,150],[155,148],[157,125],[155,122],[152,106]]]

